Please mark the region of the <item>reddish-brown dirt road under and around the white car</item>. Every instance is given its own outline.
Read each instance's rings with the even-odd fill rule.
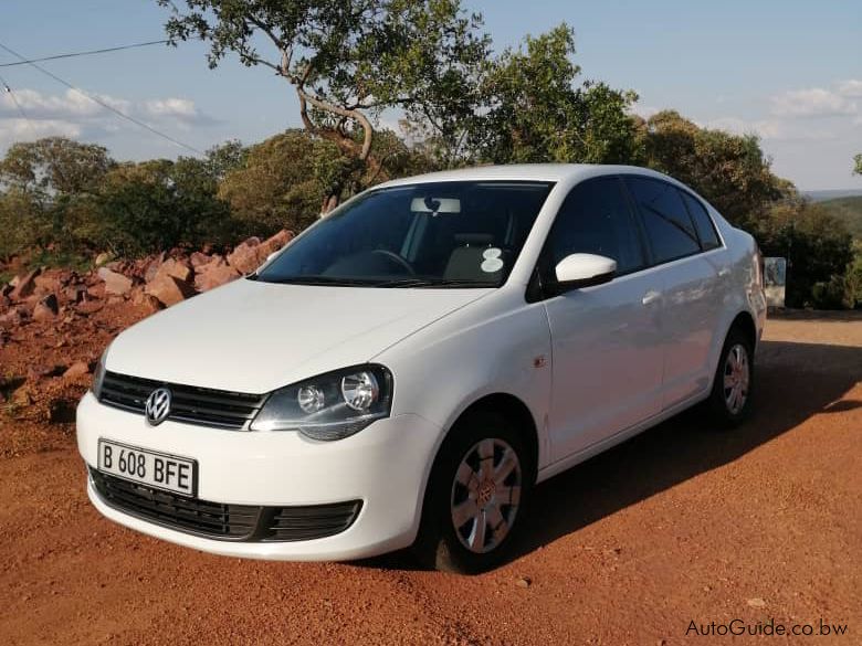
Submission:
[[[685,414],[542,485],[475,578],[158,542],[90,506],[71,425],[7,416],[0,644],[862,644],[862,317],[770,321],[758,370],[743,428]],[[735,618],[814,635],[692,631]]]

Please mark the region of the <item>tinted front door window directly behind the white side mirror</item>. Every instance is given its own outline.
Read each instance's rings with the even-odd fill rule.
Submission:
[[[617,261],[617,273],[645,265],[637,224],[617,178],[588,180],[575,187],[560,206],[543,254],[543,278],[570,254],[588,253]]]

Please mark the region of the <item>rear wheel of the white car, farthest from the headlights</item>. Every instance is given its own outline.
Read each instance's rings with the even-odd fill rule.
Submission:
[[[748,415],[754,394],[754,347],[739,328],[727,335],[715,371],[709,407],[724,426],[737,426]]]

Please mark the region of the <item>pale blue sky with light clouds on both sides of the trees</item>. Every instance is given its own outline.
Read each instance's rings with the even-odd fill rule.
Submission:
[[[162,36],[155,0],[3,0],[0,43],[25,56]],[[778,174],[800,189],[862,189],[862,4],[858,0],[682,2],[465,0],[501,50],[561,21],[584,76],[633,88],[638,112],[672,107],[698,124],[757,133]],[[252,142],[298,125],[292,89],[229,60],[210,71],[201,43],[44,63],[66,81],[195,148]],[[0,63],[14,59],[0,52]],[[0,151],[63,134],[120,159],[186,153],[29,66],[0,67],[27,119],[0,95]]]

